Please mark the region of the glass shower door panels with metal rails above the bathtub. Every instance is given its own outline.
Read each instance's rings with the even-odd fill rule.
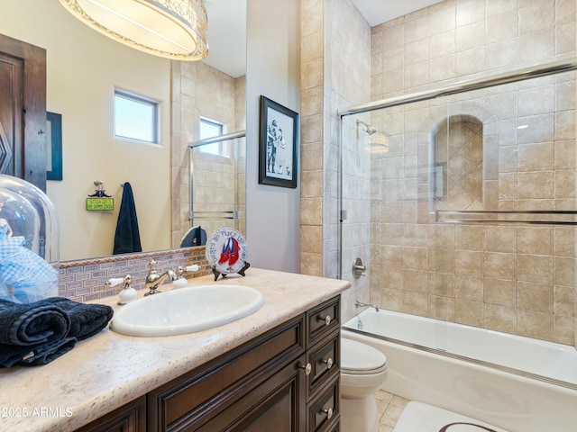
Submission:
[[[446,320],[575,344],[575,68],[338,112],[338,273],[357,300],[439,334]]]

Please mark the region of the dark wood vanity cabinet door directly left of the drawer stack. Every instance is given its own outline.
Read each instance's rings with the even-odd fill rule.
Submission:
[[[299,432],[306,428],[305,356],[274,374],[198,432]]]

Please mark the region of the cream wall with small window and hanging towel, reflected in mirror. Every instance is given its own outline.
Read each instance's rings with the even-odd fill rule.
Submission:
[[[142,247],[170,247],[170,61],[109,40],[57,1],[2,2],[0,32],[47,51],[47,109],[63,129],[63,180],[47,185],[60,260],[112,254],[123,182],[133,185]],[[160,145],[113,138],[114,86],[160,101]],[[95,180],[114,211],[86,211]]]

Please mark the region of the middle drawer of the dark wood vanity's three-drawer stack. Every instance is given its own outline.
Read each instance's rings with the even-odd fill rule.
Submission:
[[[311,365],[311,373],[307,375],[309,398],[334,375],[340,373],[341,338],[339,336],[340,329],[337,329],[308,354],[307,363]]]

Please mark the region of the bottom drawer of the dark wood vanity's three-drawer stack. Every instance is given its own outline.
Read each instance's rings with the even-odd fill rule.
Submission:
[[[309,404],[308,432],[338,430],[335,426],[341,418],[338,378],[337,375],[330,387]]]

